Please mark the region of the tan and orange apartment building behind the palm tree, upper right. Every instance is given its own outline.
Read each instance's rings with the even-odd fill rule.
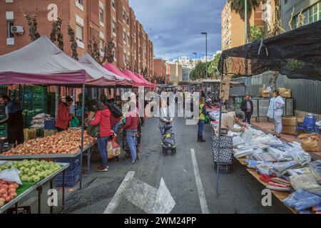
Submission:
[[[270,13],[274,11],[272,3]],[[258,9],[253,10],[250,17],[250,26],[263,28],[263,4]],[[222,50],[234,48],[245,44],[245,21],[240,19],[235,11],[230,9],[230,3],[226,4],[222,10]]]

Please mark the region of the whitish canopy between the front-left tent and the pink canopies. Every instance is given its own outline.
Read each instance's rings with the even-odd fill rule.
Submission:
[[[81,56],[78,62],[103,73],[104,78],[106,78],[106,81],[110,82],[109,85],[104,86],[131,86],[132,84],[132,81],[130,79],[118,76],[116,73],[113,73],[111,71],[108,71],[106,68],[103,68],[103,66],[97,63],[88,53],[85,53],[83,56]]]

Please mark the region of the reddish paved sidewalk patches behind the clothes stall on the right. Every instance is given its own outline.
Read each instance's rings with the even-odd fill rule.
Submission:
[[[273,133],[274,129],[274,124],[272,122],[255,122],[255,120],[252,120],[252,125],[254,128],[257,128],[259,130],[263,130],[265,133]],[[285,142],[300,142],[295,135],[285,135],[285,134],[280,134],[281,139],[284,140]],[[310,155],[312,156],[313,159],[315,160],[321,160],[321,152],[309,152]]]

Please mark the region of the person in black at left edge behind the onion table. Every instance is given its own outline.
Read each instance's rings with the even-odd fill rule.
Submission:
[[[0,104],[6,105],[6,118],[0,120],[0,124],[8,123],[9,144],[19,145],[24,143],[24,119],[19,103],[14,103],[9,96],[2,95]]]

